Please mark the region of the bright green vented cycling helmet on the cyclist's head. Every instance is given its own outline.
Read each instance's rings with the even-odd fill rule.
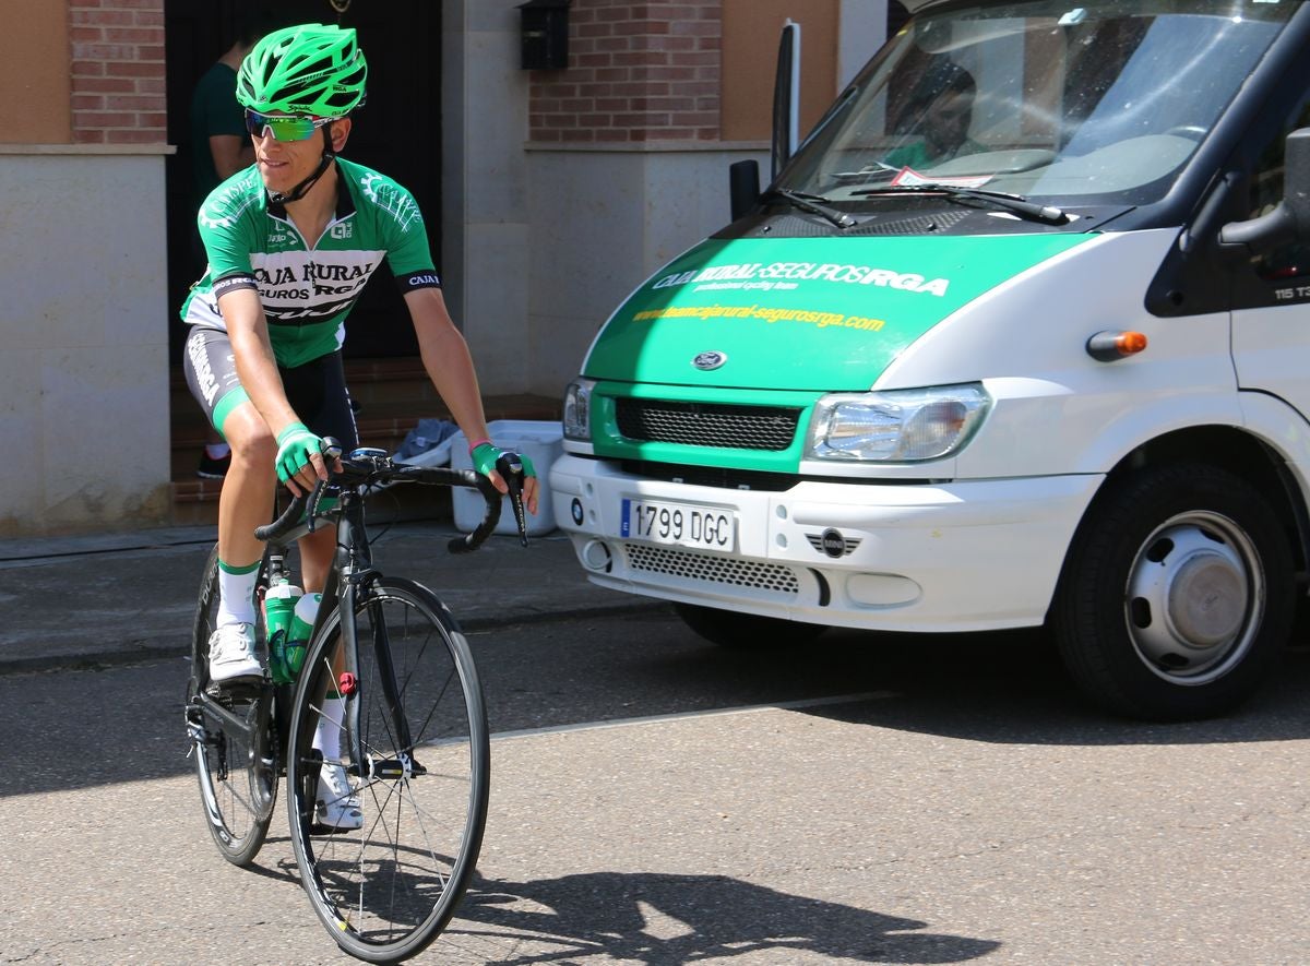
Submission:
[[[274,30],[237,73],[237,101],[261,114],[341,118],[364,99],[368,64],[354,27],[324,24]]]

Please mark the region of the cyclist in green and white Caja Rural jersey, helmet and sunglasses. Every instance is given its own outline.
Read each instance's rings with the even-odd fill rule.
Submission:
[[[237,75],[255,162],[214,188],[198,215],[208,266],[182,306],[191,326],[183,368],[191,394],[232,446],[219,496],[215,682],[263,675],[254,637],[263,545],[254,530],[271,517],[275,482],[308,492],[326,478],[321,437],[358,445],[343,322],[383,258],[401,285],[424,368],[470,440],[473,466],[507,491],[495,470],[502,450],[487,438],[477,374],[445,309],[418,206],[394,181],[338,156],[367,75],[352,29],[305,24],[262,38]],[[523,465],[524,504],[536,513],[537,480],[531,461]],[[307,592],[322,589],[334,547],[330,529],[301,541]],[[358,800],[334,764],[339,729],[321,728],[314,746],[325,759],[317,819],[360,827]]]

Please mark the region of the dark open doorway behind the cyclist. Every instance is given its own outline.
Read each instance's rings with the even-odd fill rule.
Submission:
[[[166,162],[169,250],[169,351],[182,357],[186,332],[177,317],[195,281],[195,211],[187,110],[191,89],[232,45],[238,5],[252,0],[165,0],[168,139],[177,153]],[[269,29],[291,24],[339,24],[359,31],[368,59],[368,94],[354,114],[345,157],[376,168],[407,187],[423,211],[438,272],[441,185],[441,12],[431,0],[276,0],[263,8]],[[398,288],[379,272],[346,322],[347,359],[415,356],[418,346]]]

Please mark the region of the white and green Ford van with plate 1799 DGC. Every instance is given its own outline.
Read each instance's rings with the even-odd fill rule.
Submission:
[[[909,7],[597,334],[555,520],[726,645],[1048,626],[1230,708],[1310,556],[1310,4]]]

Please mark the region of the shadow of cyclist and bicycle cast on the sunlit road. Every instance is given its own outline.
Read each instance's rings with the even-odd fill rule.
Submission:
[[[726,876],[599,872],[507,882],[476,878],[443,941],[512,941],[489,966],[604,954],[686,963],[761,950],[855,962],[964,962],[994,940],[922,932],[927,923],[789,895]],[[485,928],[478,928],[485,927]]]

